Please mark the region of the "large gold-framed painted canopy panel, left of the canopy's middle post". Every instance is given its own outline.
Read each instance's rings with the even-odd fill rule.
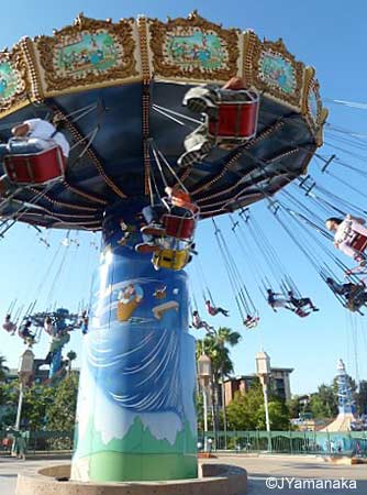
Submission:
[[[138,76],[133,28],[133,20],[113,24],[80,14],[74,26],[55,32],[53,37],[35,38],[44,92],[112,85]]]

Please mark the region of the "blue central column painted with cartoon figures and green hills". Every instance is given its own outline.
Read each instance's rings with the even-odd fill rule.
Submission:
[[[156,271],[151,255],[137,254],[138,219],[126,208],[120,211],[104,222],[92,286],[71,477],[196,477],[196,364],[187,275]]]

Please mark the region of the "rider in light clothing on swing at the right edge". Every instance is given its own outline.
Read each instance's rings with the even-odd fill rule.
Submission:
[[[358,234],[367,238],[367,228],[364,224],[364,219],[351,215],[345,219],[332,217],[325,221],[326,229],[334,232],[334,246],[360,264],[365,262],[364,254],[353,248],[353,242]]]

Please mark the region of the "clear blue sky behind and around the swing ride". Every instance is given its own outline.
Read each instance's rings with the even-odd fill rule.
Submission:
[[[321,94],[325,100],[366,101],[367,3],[364,0],[353,0],[348,4],[341,0],[307,2],[232,0],[230,3],[218,0],[210,2],[63,0],[52,4],[45,0],[19,0],[13,9],[3,9],[1,13],[0,46],[11,46],[23,35],[52,34],[53,29],[71,23],[81,11],[87,16],[112,18],[118,21],[120,18],[142,13],[163,20],[167,16],[186,16],[193,9],[198,9],[202,16],[220,22],[225,28],[253,29],[259,37],[265,36],[274,41],[282,37],[288,50],[298,59],[316,68]],[[330,103],[329,122],[333,125],[367,134],[365,116],[366,110]],[[332,147],[324,146],[321,153],[330,155]],[[362,157],[351,158],[348,155],[348,160],[353,163],[357,160],[358,166],[363,166],[365,155],[360,151],[358,153]],[[313,167],[314,165],[311,165],[311,173],[315,170]],[[347,182],[352,180],[355,187],[363,190],[363,184],[348,174],[341,177]],[[342,188],[327,176],[320,176],[320,182],[351,202],[357,200],[349,190]],[[360,198],[358,201],[364,207],[363,198],[362,204]],[[321,310],[305,319],[285,311],[275,315],[257,292],[248,260],[244,258],[245,254],[238,249],[235,238],[231,237],[229,219],[222,218],[219,226],[226,235],[246,284],[253,290],[262,317],[258,329],[245,331],[236,315],[233,294],[215,246],[212,224],[204,221],[198,230],[204,284],[199,282],[197,263],[189,268],[189,273],[192,275],[192,286],[199,305],[202,305],[200,294],[202,285],[208,284],[215,302],[231,310],[230,318],[216,317],[211,323],[229,326],[243,334],[241,344],[232,352],[235,374],[254,373],[255,353],[263,345],[271,358],[271,365],[294,369],[291,375],[293,393],[310,393],[319,384],[330,383],[335,375],[338,358],[344,359],[353,376],[367,378],[365,360],[367,327],[364,319],[352,317],[337,305],[308,260],[291,243],[264,205],[254,210],[266,237],[279,253],[287,271],[289,270],[292,278],[297,280],[302,294],[311,296]],[[52,244],[49,249],[40,242],[34,229],[22,226],[16,226],[0,240],[2,314],[7,312],[15,298],[22,301],[37,298],[38,304],[48,299],[49,304],[57,301],[59,306],[69,307],[71,310],[78,308],[81,299],[88,299],[91,272],[98,261],[94,244],[99,243],[99,235],[73,234],[71,238],[77,240],[80,246],[73,244],[67,249],[60,248],[65,233],[49,232],[47,235]],[[203,312],[203,309],[201,311]],[[69,348],[75,349],[80,355],[82,352],[80,334],[71,337]],[[0,334],[0,353],[7,356],[10,366],[16,365],[22,349],[20,339],[11,338],[5,332]],[[42,356],[46,349],[47,340],[43,337],[35,349],[36,355]]]

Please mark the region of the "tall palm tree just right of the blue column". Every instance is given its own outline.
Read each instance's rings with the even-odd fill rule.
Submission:
[[[208,334],[202,340],[197,341],[197,360],[202,353],[207,354],[212,364],[211,394],[213,404],[213,427],[219,429],[219,389],[220,382],[223,384],[224,377],[233,372],[233,361],[230,356],[230,348],[236,345],[241,340],[241,334],[227,327],[220,327],[213,334]],[[226,429],[224,386],[222,386],[222,406],[224,430]]]

